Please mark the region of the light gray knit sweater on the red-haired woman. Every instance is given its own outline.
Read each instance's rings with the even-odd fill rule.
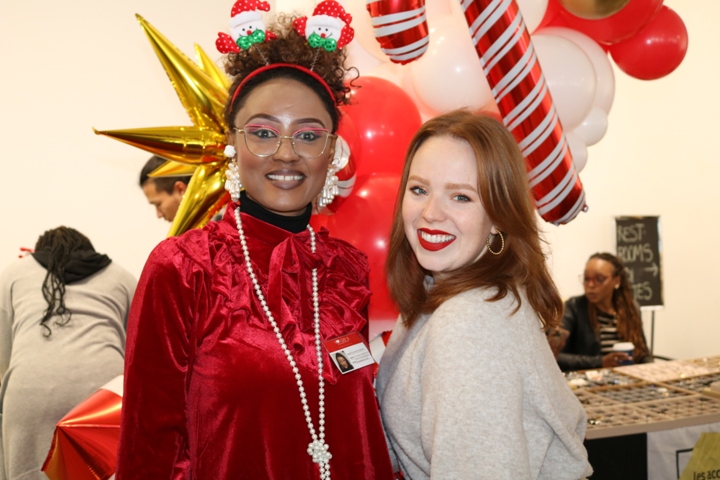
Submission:
[[[391,454],[406,478],[577,480],[592,473],[585,411],[523,297],[464,292],[398,321],[377,376]]]

